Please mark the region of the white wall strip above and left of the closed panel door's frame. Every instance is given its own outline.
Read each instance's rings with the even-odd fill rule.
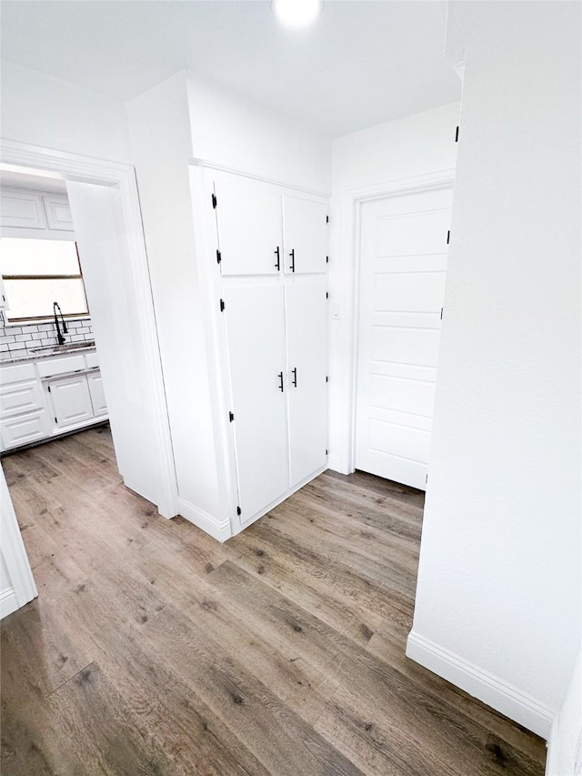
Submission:
[[[347,192],[358,186],[424,176],[455,166],[457,103],[372,126],[333,143],[333,196],[329,265],[330,322],[329,464],[348,474],[352,422],[352,352],[355,245]]]

